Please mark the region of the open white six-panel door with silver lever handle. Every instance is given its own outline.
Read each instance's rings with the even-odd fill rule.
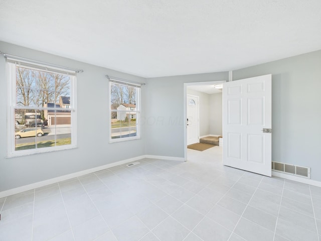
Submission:
[[[224,165],[271,176],[271,99],[270,74],[223,84]]]

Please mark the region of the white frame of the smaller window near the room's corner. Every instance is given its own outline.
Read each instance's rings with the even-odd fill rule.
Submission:
[[[120,85],[129,85],[132,87],[136,88],[136,109],[135,110],[115,110],[111,109],[111,84],[116,83]],[[109,119],[109,143],[116,143],[116,142],[125,142],[125,141],[131,141],[131,140],[137,140],[140,139],[140,126],[139,124],[136,125],[136,136],[134,137],[122,137],[122,138],[111,138],[111,112],[135,112],[136,113],[136,124],[139,123],[139,118],[140,118],[140,92],[141,92],[141,87],[140,85],[132,84],[131,82],[126,82],[126,81],[118,81],[117,79],[112,79],[109,78],[109,114],[108,114],[108,119]]]

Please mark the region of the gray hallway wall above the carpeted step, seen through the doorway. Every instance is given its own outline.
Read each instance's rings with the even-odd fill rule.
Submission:
[[[223,135],[223,102],[222,93],[210,95],[210,134]]]

